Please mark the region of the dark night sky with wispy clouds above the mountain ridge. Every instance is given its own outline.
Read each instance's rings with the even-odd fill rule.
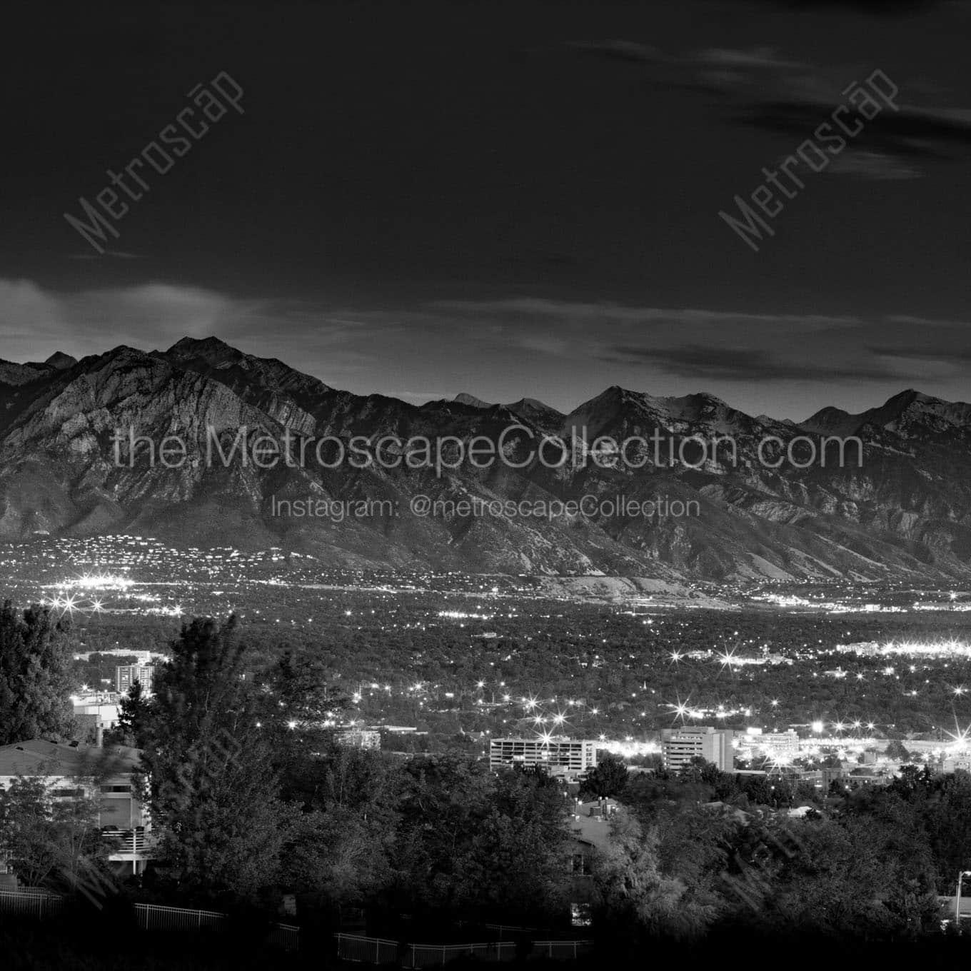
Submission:
[[[0,357],[185,334],[411,401],[619,384],[753,414],[968,400],[971,7],[676,0],[7,12]],[[751,251],[718,217],[874,69]],[[63,218],[225,71],[99,256]]]

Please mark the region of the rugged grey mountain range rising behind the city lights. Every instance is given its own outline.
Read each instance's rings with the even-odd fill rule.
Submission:
[[[583,448],[598,436],[660,435],[678,444],[730,436],[737,456],[671,464],[637,452],[641,468],[466,462],[440,477],[403,465],[262,469],[201,460],[210,427],[232,437],[245,425],[251,434],[289,432],[312,442],[361,435],[468,442],[496,440],[514,424],[518,464],[524,438],[557,434],[569,442],[578,428],[586,429]],[[179,468],[119,466],[113,436],[129,427],[155,442],[179,434],[188,460]],[[859,438],[862,461],[800,468],[759,459],[767,439],[780,448],[796,440],[798,457],[834,436]],[[128,533],[200,548],[281,547],[361,568],[943,585],[971,578],[969,446],[971,405],[914,390],[859,415],[824,408],[802,422],[753,418],[709,394],[658,397],[617,386],[569,415],[531,398],[489,404],[466,394],[416,406],[335,389],[215,338],[185,338],[164,352],[118,347],[82,360],[58,353],[44,362],[0,361],[0,540]],[[273,515],[281,499],[387,499],[407,510],[419,494],[483,502],[666,497],[695,501],[698,515]]]

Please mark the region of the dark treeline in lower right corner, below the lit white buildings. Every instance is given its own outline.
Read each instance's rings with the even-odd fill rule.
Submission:
[[[820,798],[779,777],[696,764],[631,779],[619,799],[627,813],[612,855],[626,866],[651,848],[666,904],[664,894],[647,897],[640,924],[657,929],[682,921],[692,933],[744,924],[766,934],[935,934],[938,894],[954,893],[971,860],[965,772],[907,766],[887,787],[839,782]],[[802,815],[789,815],[794,804]],[[618,933],[632,925],[620,921]]]

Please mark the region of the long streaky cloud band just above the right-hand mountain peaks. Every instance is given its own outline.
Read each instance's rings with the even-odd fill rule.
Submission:
[[[863,318],[822,314],[751,314],[700,308],[623,306],[515,297],[491,301],[438,301],[425,305],[447,315],[469,340],[496,339],[523,352],[564,361],[603,361],[637,369],[646,379],[668,376],[717,383],[854,382],[912,384],[957,368],[882,355],[874,348],[910,346],[916,328],[927,348],[966,344],[968,324],[904,316]]]

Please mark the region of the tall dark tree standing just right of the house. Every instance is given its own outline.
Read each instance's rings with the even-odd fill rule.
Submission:
[[[171,648],[143,753],[163,855],[187,887],[252,900],[275,881],[294,820],[278,797],[262,699],[244,678],[234,618],[195,619]]]

